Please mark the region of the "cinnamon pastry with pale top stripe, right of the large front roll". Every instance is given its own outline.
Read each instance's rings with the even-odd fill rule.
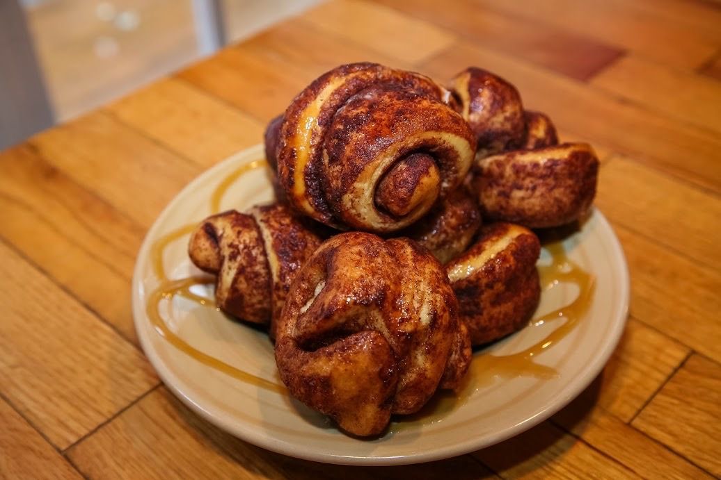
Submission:
[[[520,225],[481,227],[479,239],[446,265],[459,318],[473,345],[492,342],[528,323],[541,295],[538,237]]]

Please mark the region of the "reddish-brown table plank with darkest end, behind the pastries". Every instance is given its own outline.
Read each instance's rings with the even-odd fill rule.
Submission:
[[[509,17],[469,1],[454,2],[452,6],[435,0],[380,0],[380,3],[445,27],[471,42],[580,80],[593,76],[622,54],[622,50],[583,34],[535,19]]]

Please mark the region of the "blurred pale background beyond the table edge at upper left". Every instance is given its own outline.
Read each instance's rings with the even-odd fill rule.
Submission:
[[[317,3],[0,0],[0,149]]]

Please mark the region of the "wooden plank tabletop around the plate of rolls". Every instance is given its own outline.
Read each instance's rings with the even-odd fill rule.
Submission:
[[[0,154],[0,476],[721,474],[721,9],[703,0],[338,0]],[[632,277],[622,342],[569,407],[421,466],[298,461],[161,384],[133,330],[143,235],[192,178],[340,63],[500,73],[601,156]]]

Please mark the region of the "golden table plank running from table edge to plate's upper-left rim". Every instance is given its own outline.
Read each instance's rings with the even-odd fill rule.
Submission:
[[[32,137],[53,167],[149,227],[201,168],[107,114],[95,112]]]

